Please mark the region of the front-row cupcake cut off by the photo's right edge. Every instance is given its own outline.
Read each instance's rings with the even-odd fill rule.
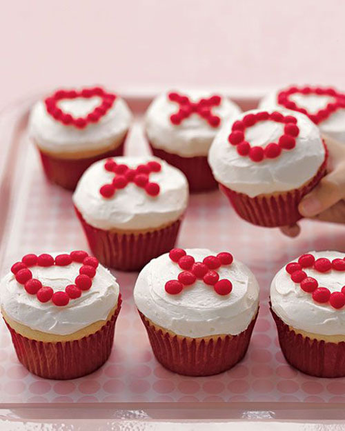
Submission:
[[[286,361],[316,377],[345,376],[345,254],[310,252],[280,270],[271,312]]]

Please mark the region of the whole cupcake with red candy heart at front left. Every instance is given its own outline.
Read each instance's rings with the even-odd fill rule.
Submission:
[[[119,285],[87,252],[27,254],[0,283],[19,361],[45,379],[75,379],[108,359]]]

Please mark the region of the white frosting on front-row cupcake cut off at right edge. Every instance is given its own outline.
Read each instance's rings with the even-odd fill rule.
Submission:
[[[343,259],[339,252],[310,252],[316,259],[326,257]],[[297,260],[295,260],[297,261]],[[342,290],[345,284],[344,272],[331,270],[321,273],[313,268],[304,268],[308,277],[313,277],[319,286],[331,292]],[[345,308],[336,310],[329,303],[317,303],[311,293],[304,292],[299,283],[291,280],[285,266],[275,276],[270,286],[272,309],[287,325],[320,335],[345,335]]]

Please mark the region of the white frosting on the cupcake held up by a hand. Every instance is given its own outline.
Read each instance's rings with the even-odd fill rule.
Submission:
[[[294,112],[299,127],[296,146],[293,150],[283,150],[277,159],[264,159],[259,163],[248,156],[237,153],[236,147],[228,142],[233,122],[242,119],[250,110],[224,125],[215,137],[208,154],[208,163],[215,179],[235,192],[255,197],[294,190],[314,177],[325,159],[325,150],[319,129],[304,114]],[[281,110],[283,114],[291,114]],[[271,111],[273,112],[273,110]],[[283,134],[284,124],[276,121],[260,121],[246,128],[245,137],[250,146],[266,147],[277,142]]]

